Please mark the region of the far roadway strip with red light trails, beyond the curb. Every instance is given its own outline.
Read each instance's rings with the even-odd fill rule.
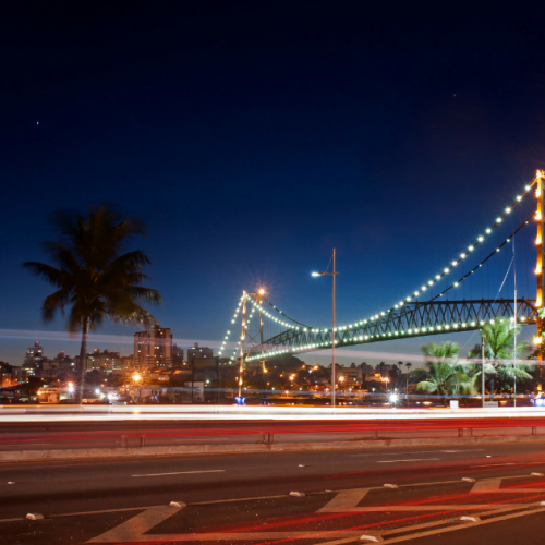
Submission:
[[[463,432],[460,432],[463,429]],[[376,420],[339,422],[0,422],[0,450],[49,450],[69,448],[226,445],[272,440],[319,443],[324,440],[453,438],[464,436],[545,435],[543,417]],[[268,434],[272,434],[269,437]]]

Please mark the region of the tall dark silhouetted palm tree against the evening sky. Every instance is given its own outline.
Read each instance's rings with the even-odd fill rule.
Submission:
[[[159,305],[161,295],[142,286],[148,278],[142,269],[152,263],[149,257],[140,250],[123,253],[134,235],[144,234],[138,221],[100,206],[90,207],[86,217],[59,211],[51,223],[59,238],[44,242],[43,246],[57,266],[26,262],[23,267],[57,288],[44,301],[44,320],[51,322],[57,311],[64,314],[68,306],[69,331],[82,331],[77,392],[81,402],[89,329],[94,330],[105,318],[146,326],[157,324],[137,301]]]

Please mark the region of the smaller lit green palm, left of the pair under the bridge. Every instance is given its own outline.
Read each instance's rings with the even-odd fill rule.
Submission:
[[[457,392],[459,385],[468,382],[469,377],[464,373],[463,365],[457,360],[460,351],[458,344],[450,341],[443,344],[429,342],[421,350],[428,361],[426,362],[427,371],[411,372],[411,375],[417,378],[425,378],[416,385],[416,391],[444,396]]]

